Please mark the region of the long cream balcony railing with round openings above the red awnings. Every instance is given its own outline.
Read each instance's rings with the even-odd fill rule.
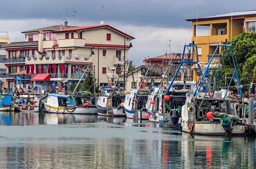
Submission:
[[[40,55],[27,55],[26,63],[32,64],[33,61],[52,61],[55,63],[64,63],[65,61],[88,61],[90,54],[40,54]]]

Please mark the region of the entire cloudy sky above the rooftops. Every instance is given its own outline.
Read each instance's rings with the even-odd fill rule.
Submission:
[[[232,2],[232,4],[231,4]],[[104,23],[136,39],[129,50],[129,60],[137,66],[144,57],[166,53],[166,40],[171,52],[179,51],[179,44],[191,42],[191,22],[185,19],[216,14],[253,10],[248,4],[254,0],[8,0],[1,2],[0,31],[9,32],[10,42],[24,41],[20,32],[64,23],[67,15],[76,10],[76,26],[99,25],[104,5]],[[67,17],[74,25],[73,17]],[[199,29],[199,28],[198,28]],[[207,35],[207,29],[199,35]],[[4,34],[0,34],[4,35]],[[15,39],[16,38],[16,39]],[[169,46],[167,46],[169,51]]]

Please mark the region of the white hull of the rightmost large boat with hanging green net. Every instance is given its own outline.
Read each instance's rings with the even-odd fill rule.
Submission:
[[[192,126],[192,122],[189,123]],[[183,122],[182,131],[191,133],[188,129],[187,123]],[[225,129],[221,126],[220,121],[198,121],[195,122],[194,134],[199,135],[225,135]],[[245,123],[236,123],[232,129],[232,135],[244,135],[245,134]]]

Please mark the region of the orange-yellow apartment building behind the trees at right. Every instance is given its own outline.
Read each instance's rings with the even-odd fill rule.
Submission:
[[[223,44],[223,42],[230,40],[231,37],[238,36],[243,31],[256,31],[256,10],[187,19],[187,21],[192,22],[192,43],[198,46],[198,57],[203,66],[208,61],[208,55],[215,52],[218,43]],[[197,35],[197,33],[200,33],[199,31],[205,31],[205,29],[199,29],[202,26],[208,27],[208,36]],[[219,54],[219,52],[220,50],[216,54]],[[217,56],[215,62],[218,62]],[[195,72],[193,77],[194,80],[198,79]]]

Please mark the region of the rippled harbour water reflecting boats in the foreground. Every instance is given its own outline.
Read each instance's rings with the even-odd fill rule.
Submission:
[[[0,112],[0,168],[251,169],[254,138],[189,135],[147,120]]]

